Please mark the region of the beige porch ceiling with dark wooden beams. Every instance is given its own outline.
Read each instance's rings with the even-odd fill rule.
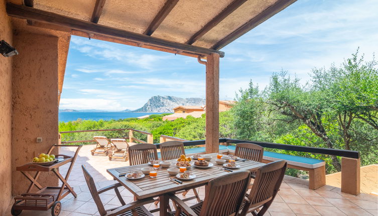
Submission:
[[[218,53],[296,0],[8,0],[8,15],[73,35],[193,57]],[[24,4],[24,6],[22,6]]]

